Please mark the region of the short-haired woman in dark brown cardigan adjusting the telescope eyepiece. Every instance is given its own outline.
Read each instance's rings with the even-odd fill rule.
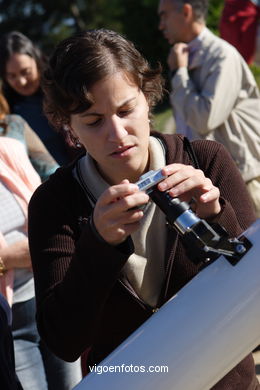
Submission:
[[[230,236],[255,216],[222,145],[193,142],[200,170],[180,136],[150,132],[151,109],[162,95],[160,69],[151,69],[119,34],[92,30],[61,42],[44,90],[50,121],[65,125],[86,152],[52,175],[30,202],[37,322],[54,353],[73,361],[88,350],[90,366],[201,266],[190,261],[165,215],[133,184],[144,172],[162,169],[166,179],[159,190],[192,200],[199,217],[220,223]],[[258,388],[252,355],[214,386]]]

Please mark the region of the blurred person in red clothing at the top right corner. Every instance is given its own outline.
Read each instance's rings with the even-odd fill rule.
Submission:
[[[239,51],[248,64],[259,60],[260,0],[225,0],[220,36]]]

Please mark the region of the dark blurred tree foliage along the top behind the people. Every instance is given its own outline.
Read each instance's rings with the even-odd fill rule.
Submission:
[[[217,30],[223,0],[210,0]],[[0,35],[19,30],[49,53],[77,30],[110,28],[133,40],[149,61],[163,63],[168,45],[158,31],[158,0],[0,0]]]

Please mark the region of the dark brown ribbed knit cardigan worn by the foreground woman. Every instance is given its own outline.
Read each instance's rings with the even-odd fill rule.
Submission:
[[[165,144],[167,164],[191,164],[181,136],[156,136]],[[230,236],[239,235],[255,215],[238,169],[221,144],[198,140],[193,147],[205,176],[220,189],[222,211],[209,222],[220,223]],[[87,364],[93,365],[148,319],[152,308],[120,278],[134,251],[131,238],[114,247],[93,233],[92,207],[72,175],[74,165],[58,169],[34,193],[29,205],[29,245],[41,337],[67,361],[91,348]],[[201,265],[190,261],[173,229],[168,229],[167,237],[166,277],[158,306],[192,279]],[[257,386],[249,355],[213,389],[255,390]]]

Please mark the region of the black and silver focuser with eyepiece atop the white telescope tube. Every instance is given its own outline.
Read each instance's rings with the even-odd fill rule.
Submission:
[[[245,237],[229,238],[226,230],[219,224],[209,225],[199,218],[187,202],[173,198],[167,191],[162,192],[157,184],[166,176],[161,170],[149,171],[136,183],[153,202],[164,212],[168,223],[182,236],[191,260],[208,263],[223,255],[235,265],[247,253],[252,244]]]

